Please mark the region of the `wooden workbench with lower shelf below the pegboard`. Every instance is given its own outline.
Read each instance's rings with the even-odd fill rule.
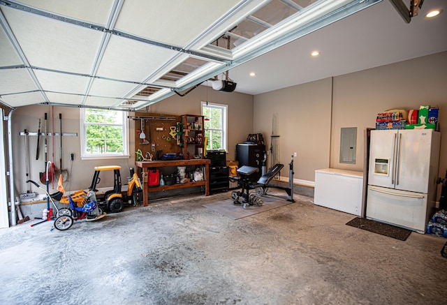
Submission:
[[[147,198],[149,192],[173,190],[175,188],[189,188],[193,186],[205,186],[205,196],[210,195],[209,177],[210,177],[210,159],[191,159],[191,160],[172,160],[172,161],[135,161],[135,166],[142,170],[142,202],[147,207]],[[189,165],[205,165],[205,173],[203,181],[187,182],[185,184],[172,184],[170,186],[147,186],[147,169],[148,168],[164,168],[168,166],[189,166]]]

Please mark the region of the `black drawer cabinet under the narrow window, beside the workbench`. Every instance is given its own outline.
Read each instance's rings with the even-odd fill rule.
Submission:
[[[228,166],[226,165],[226,151],[207,151],[210,159],[210,193],[226,192],[230,188],[228,181]]]

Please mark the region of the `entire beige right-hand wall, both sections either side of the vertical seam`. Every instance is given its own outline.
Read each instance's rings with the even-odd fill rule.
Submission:
[[[333,86],[333,89],[332,89]],[[295,180],[314,181],[320,168],[363,170],[363,131],[374,128],[384,110],[439,106],[439,176],[447,169],[447,52],[254,96],[254,132],[268,145],[272,114],[279,114],[281,163],[295,158]],[[331,89],[332,97],[331,97]],[[356,164],[339,163],[342,127],[357,127]],[[286,173],[281,172],[281,175]]]

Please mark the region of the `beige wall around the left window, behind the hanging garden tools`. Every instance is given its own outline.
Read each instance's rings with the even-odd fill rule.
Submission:
[[[13,163],[14,163],[14,182],[16,195],[26,193],[27,185],[25,181],[25,151],[24,137],[20,132],[26,128],[29,132],[36,133],[38,129],[38,119],[41,119],[41,132],[44,132],[44,114],[47,113],[47,132],[52,132],[52,121],[50,117],[51,107],[47,105],[32,105],[27,107],[18,107],[13,113]],[[132,158],[113,158],[102,160],[81,160],[80,158],[80,110],[77,107],[59,107],[54,106],[54,133],[59,133],[59,113],[62,114],[62,132],[75,133],[77,136],[66,136],[62,138],[62,168],[68,170],[70,179],[64,182],[66,191],[77,191],[79,189],[89,188],[93,179],[94,167],[101,165],[119,165],[122,167],[121,175],[123,184],[126,183],[126,177],[129,177],[129,168],[134,166]],[[133,121],[129,121],[129,134],[133,135]],[[133,151],[134,140],[129,138],[130,149]],[[47,137],[47,160],[53,161],[59,168],[59,147],[60,137],[54,137],[54,149],[52,137]],[[29,178],[38,182],[40,173],[45,172],[45,150],[44,137],[40,139],[40,154],[36,160],[37,137],[29,136]],[[54,151],[54,157],[53,157]],[[74,161],[71,162],[70,154],[74,154]],[[133,154],[131,154],[133,156]],[[101,174],[101,183],[98,188],[110,187],[113,185],[113,174]],[[43,186],[45,188],[45,186]],[[35,186],[30,186],[31,191],[42,193]],[[57,182],[50,183],[50,193],[54,193],[57,188]]]

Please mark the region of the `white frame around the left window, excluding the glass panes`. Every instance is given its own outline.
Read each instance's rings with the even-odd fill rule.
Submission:
[[[85,128],[85,110],[89,108],[80,108],[80,141],[81,141],[81,160],[98,160],[98,159],[118,159],[118,158],[130,158],[129,155],[129,120],[127,119],[127,112],[122,112],[122,127],[123,127],[123,152],[117,153],[104,153],[104,154],[87,154],[87,129]],[[112,110],[115,111],[115,110]]]

